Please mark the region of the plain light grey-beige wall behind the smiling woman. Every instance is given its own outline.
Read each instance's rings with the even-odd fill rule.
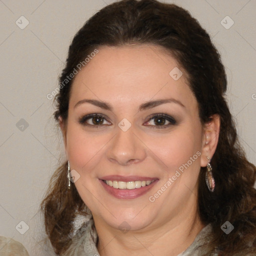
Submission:
[[[111,2],[0,0],[0,235],[22,242],[30,255],[50,255],[40,242],[43,227],[38,208],[51,174],[64,160],[61,136],[51,117],[52,100],[46,95],[58,85],[75,32]],[[248,159],[256,164],[256,0],[165,2],[188,9],[220,51],[230,110]],[[21,15],[29,21],[24,29],[15,23],[24,25]],[[220,23],[227,15],[234,21],[229,29]],[[231,24],[229,19],[222,22]],[[15,228],[20,221],[29,226],[24,234]],[[24,224],[18,226],[24,231]]]

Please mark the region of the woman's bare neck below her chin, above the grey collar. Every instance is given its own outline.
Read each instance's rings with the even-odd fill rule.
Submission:
[[[94,219],[99,254],[100,256],[176,256],[193,242],[198,232],[204,227],[196,210],[193,214],[190,209],[189,214],[180,215],[145,232],[141,230],[122,232],[114,228],[102,228],[102,223],[98,225]]]

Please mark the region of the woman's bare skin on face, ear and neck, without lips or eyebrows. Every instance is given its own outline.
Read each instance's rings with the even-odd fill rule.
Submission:
[[[174,67],[183,72],[176,81],[169,75]],[[139,110],[147,101],[167,98],[183,106],[168,102]],[[83,99],[104,101],[112,109],[89,102],[76,105]],[[92,125],[79,123],[90,113],[100,113],[106,121],[98,126],[93,126],[92,119],[87,120]],[[168,125],[161,118],[165,127],[161,128],[155,119],[150,120],[156,113],[170,115],[176,123]],[[219,117],[212,117],[207,124],[200,122],[185,70],[160,46],[101,47],[78,72],[68,118],[60,118],[59,123],[70,169],[80,174],[74,184],[94,218],[101,256],[174,256],[193,242],[204,226],[196,206],[197,177],[218,140]],[[118,127],[123,118],[131,124],[127,131]],[[149,201],[198,151],[197,159],[158,198]],[[100,177],[115,174],[157,177],[158,181],[137,198],[119,199],[99,182]],[[130,228],[127,232],[120,230],[123,221]]]

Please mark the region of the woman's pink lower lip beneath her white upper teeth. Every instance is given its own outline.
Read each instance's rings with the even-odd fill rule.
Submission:
[[[141,186],[140,188],[134,188],[134,189],[118,189],[113,188],[112,186],[107,185],[102,179],[99,179],[105,190],[113,195],[116,198],[119,199],[134,199],[137,198],[143,194],[145,194],[148,190],[150,190],[154,184],[158,181],[158,179],[154,180],[151,184],[146,186]]]

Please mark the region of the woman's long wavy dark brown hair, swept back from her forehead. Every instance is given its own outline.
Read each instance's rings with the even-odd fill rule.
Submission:
[[[221,255],[256,253],[256,168],[237,141],[224,99],[227,82],[220,56],[209,35],[186,10],[156,0],[122,0],[107,5],[74,36],[60,83],[95,48],[129,43],[152,43],[167,49],[187,73],[201,122],[208,122],[213,114],[220,116],[218,145],[211,159],[214,192],[209,192],[205,184],[205,167],[200,169],[198,182],[199,215],[203,223],[212,223],[213,227],[207,255],[215,250]],[[71,84],[72,79],[56,95],[56,121],[58,117],[67,118]],[[41,204],[46,233],[59,255],[71,243],[68,234],[75,211],[83,212],[85,206],[75,186],[67,190],[66,172],[65,162],[54,173]],[[226,220],[234,226],[228,235],[220,229]]]

